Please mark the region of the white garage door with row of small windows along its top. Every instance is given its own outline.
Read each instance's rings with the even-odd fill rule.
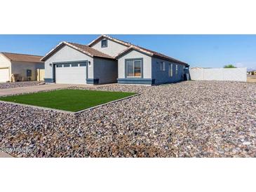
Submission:
[[[55,64],[55,82],[86,84],[86,63]]]

